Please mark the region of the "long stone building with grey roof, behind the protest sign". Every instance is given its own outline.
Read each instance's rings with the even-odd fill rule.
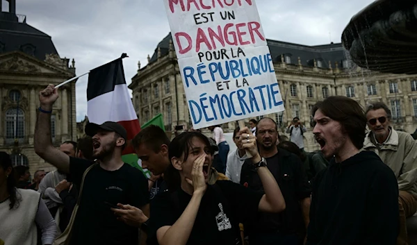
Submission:
[[[311,133],[310,109],[327,96],[348,96],[363,108],[370,101],[383,101],[392,110],[394,128],[409,133],[416,130],[417,76],[379,74],[356,67],[341,44],[309,47],[268,40],[268,46],[286,110],[265,117],[277,121],[281,135],[286,135],[285,128],[293,117],[300,117],[308,130],[304,134],[306,151],[318,149]],[[162,112],[168,131],[177,125],[192,126],[171,35],[148,56],[145,67],[138,64],[138,74],[129,88],[140,124]],[[236,125],[232,122],[222,127],[230,132]]]

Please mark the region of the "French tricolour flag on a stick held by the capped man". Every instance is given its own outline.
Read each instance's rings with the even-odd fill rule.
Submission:
[[[124,78],[122,59],[126,57],[126,53],[123,53],[117,60],[92,69],[87,87],[88,121],[95,124],[115,121],[126,129],[128,142],[122,155],[134,153],[130,141],[140,131],[138,117]]]

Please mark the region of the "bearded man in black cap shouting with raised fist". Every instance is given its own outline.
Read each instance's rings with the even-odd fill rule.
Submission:
[[[129,203],[149,213],[145,176],[122,161],[126,130],[112,121],[88,124],[85,133],[92,137],[95,161],[70,158],[51,143],[51,112],[56,99],[58,91],[54,85],[48,85],[39,94],[35,152],[70,174],[75,185],[81,187],[83,182],[70,244],[138,244],[138,228],[117,220],[111,211],[118,203]]]

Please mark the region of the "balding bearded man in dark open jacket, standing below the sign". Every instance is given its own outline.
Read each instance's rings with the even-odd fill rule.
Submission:
[[[256,126],[259,153],[267,162],[286,202],[286,210],[278,214],[259,213],[254,221],[245,223],[245,233],[251,245],[302,243],[309,224],[311,189],[297,155],[277,148],[278,130],[273,119],[265,117]],[[245,161],[240,173],[240,184],[263,191],[261,179],[253,164]]]

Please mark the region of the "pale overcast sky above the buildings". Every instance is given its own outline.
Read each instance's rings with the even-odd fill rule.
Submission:
[[[268,39],[319,45],[341,42],[352,16],[371,2],[257,0],[256,5]],[[78,75],[127,53],[128,84],[138,61],[147,65],[147,55],[170,32],[163,0],[17,0],[17,13],[50,35],[61,57],[75,59]],[[87,114],[87,79],[76,83],[77,121]]]

